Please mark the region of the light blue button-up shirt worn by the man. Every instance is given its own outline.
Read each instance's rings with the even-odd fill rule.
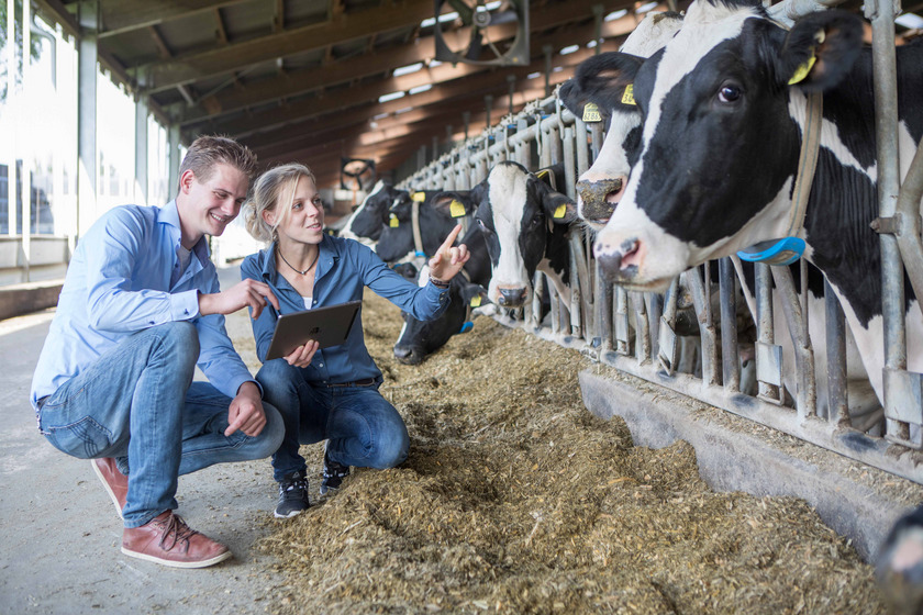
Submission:
[[[199,332],[198,366],[229,398],[254,382],[224,329],[224,316],[199,314],[199,292],[219,292],[205,237],[170,284],[181,233],[176,202],[107,212],[77,244],[57,313],[32,378],[32,404],[137,331],[186,321]]]

